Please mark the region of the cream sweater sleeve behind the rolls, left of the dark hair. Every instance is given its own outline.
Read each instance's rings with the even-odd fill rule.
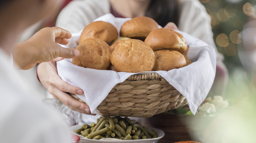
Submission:
[[[110,13],[108,0],[74,0],[59,13],[56,26],[78,32],[96,18]]]

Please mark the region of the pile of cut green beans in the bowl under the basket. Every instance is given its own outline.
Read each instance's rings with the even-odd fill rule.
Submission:
[[[122,140],[149,139],[158,133],[141,126],[136,120],[127,117],[100,117],[91,125],[83,124],[76,133],[90,139],[118,138]]]

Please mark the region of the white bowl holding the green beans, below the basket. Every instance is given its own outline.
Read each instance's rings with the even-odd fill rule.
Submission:
[[[72,130],[77,130],[81,128],[81,124],[80,125],[75,125],[69,128],[70,131]],[[152,127],[147,127],[149,129],[153,129],[158,133],[158,137],[157,138],[151,138],[151,139],[136,139],[136,140],[97,140],[97,139],[88,139],[88,138],[81,138],[81,140],[79,141],[79,143],[104,143],[104,142],[115,142],[115,143],[157,143],[163,136],[164,136],[164,132],[160,129],[157,128],[152,128]]]

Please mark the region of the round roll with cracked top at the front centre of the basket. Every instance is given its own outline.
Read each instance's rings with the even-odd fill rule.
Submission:
[[[155,62],[153,50],[145,42],[137,39],[121,40],[110,57],[117,71],[151,71]]]

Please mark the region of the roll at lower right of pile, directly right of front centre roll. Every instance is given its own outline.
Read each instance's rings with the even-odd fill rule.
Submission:
[[[169,71],[186,66],[185,57],[178,51],[155,51],[155,65],[152,71]]]

